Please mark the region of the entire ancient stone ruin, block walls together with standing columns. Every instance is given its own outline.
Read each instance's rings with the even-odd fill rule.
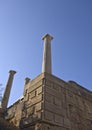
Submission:
[[[20,130],[92,130],[92,92],[52,75],[52,39],[49,34],[43,37],[42,73],[33,80],[26,78],[23,98],[7,108],[15,74],[10,71],[1,117]]]

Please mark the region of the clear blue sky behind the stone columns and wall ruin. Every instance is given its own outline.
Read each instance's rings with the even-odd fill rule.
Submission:
[[[0,0],[0,83],[16,70],[9,105],[24,79],[41,73],[42,36],[51,34],[53,75],[92,90],[92,0]]]

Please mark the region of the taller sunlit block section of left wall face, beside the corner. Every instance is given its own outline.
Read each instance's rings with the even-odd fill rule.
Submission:
[[[22,109],[21,128],[33,127],[42,118],[43,74],[29,82],[24,89],[24,108]]]

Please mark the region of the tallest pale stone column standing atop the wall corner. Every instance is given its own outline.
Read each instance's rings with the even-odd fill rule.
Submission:
[[[52,36],[46,34],[42,40],[44,40],[43,50],[43,62],[42,62],[42,73],[47,72],[52,74],[52,63],[51,63],[51,40]]]

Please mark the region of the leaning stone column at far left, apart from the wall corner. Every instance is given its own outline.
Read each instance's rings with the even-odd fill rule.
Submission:
[[[8,105],[8,101],[9,101],[9,96],[10,96],[10,91],[11,91],[11,87],[12,87],[12,83],[13,83],[13,78],[14,78],[14,74],[16,73],[16,71],[10,70],[9,71],[9,78],[8,78],[8,82],[6,84],[6,89],[2,98],[2,109],[6,110],[7,105]]]

